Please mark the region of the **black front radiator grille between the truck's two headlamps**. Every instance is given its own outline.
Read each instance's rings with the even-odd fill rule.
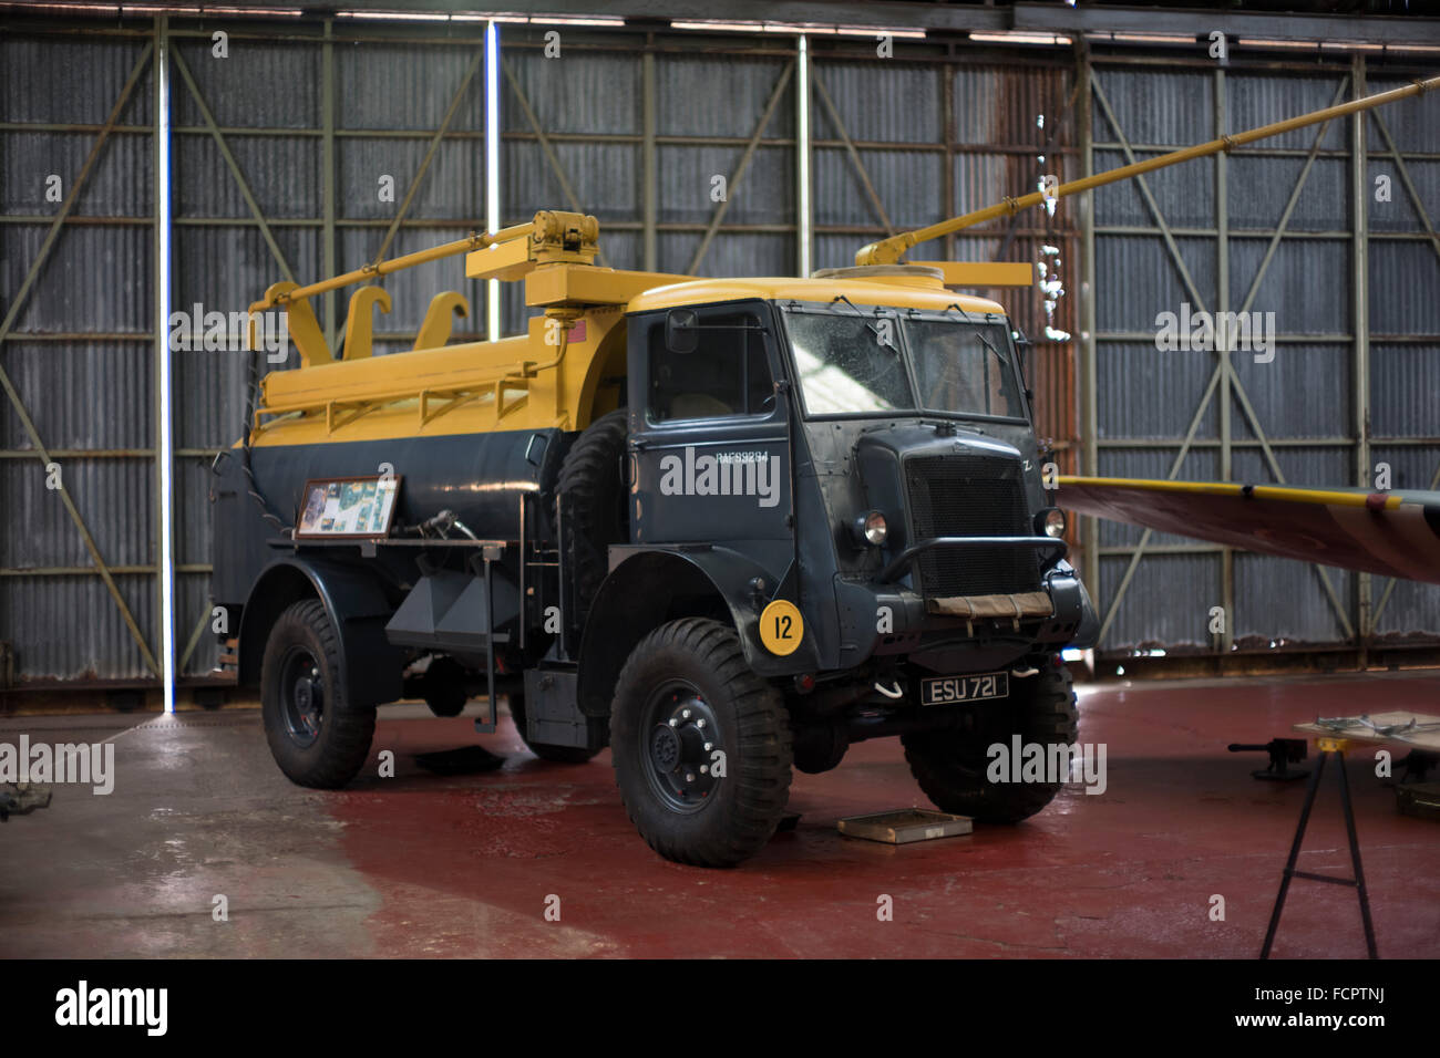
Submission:
[[[913,541],[930,537],[1032,537],[1020,462],[982,455],[907,459]],[[929,599],[1014,594],[1040,587],[1032,548],[935,547],[916,566]]]

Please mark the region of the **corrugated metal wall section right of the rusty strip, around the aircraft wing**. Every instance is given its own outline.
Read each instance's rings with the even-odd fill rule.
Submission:
[[[1356,79],[1365,92],[1405,83],[1377,76],[1364,83],[1361,63],[1310,73],[1097,65],[1094,168],[1329,107],[1351,98]],[[1403,155],[1420,155],[1405,158],[1405,171],[1433,216],[1440,168],[1427,155],[1437,117],[1436,99],[1377,111],[1365,119],[1368,157],[1356,157],[1352,122],[1336,121],[1323,132],[1297,130],[1225,158],[1155,173],[1143,186],[1096,191],[1102,475],[1374,487],[1375,465],[1385,462],[1392,488],[1436,485],[1440,358],[1427,351],[1440,335],[1437,248],[1400,167],[1382,157],[1388,145],[1380,127],[1392,130]],[[1356,166],[1367,222],[1359,236]],[[1390,202],[1375,199],[1382,174],[1392,183]],[[1358,238],[1368,246],[1356,250]],[[1359,276],[1356,252],[1365,255]],[[1359,327],[1358,286],[1369,299]],[[1159,351],[1158,314],[1179,314],[1184,304],[1194,312],[1273,312],[1274,360],[1257,363],[1237,351],[1234,377],[1225,379],[1215,353]],[[1092,590],[1109,618],[1104,651],[1225,652],[1346,643],[1362,633],[1440,633],[1434,587],[1391,587],[1165,534],[1152,534],[1136,560],[1142,537],[1125,525],[1099,527]],[[1224,635],[1210,630],[1214,606],[1225,609]]]

